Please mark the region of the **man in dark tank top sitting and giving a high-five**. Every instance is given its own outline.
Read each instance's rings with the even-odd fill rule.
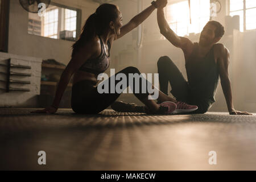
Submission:
[[[171,30],[164,17],[163,8],[158,9],[157,18],[160,33],[172,45],[183,50],[188,77],[186,81],[169,57],[160,57],[158,60],[160,90],[168,94],[168,82],[170,82],[171,93],[177,100],[197,105],[199,109],[193,113],[203,114],[215,101],[214,94],[220,78],[229,114],[251,115],[246,111],[235,110],[233,106],[228,73],[229,51],[223,44],[217,43],[224,35],[224,27],[219,22],[209,21],[201,31],[199,43],[192,43],[188,38],[177,36]],[[135,111],[139,108],[134,104],[117,102],[112,106],[114,110],[117,110],[116,105],[119,110],[120,108],[129,110],[130,107],[130,111]]]

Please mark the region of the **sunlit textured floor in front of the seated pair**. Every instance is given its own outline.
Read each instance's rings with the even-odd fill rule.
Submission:
[[[0,109],[0,169],[256,170],[256,115]],[[46,152],[46,165],[38,152]],[[217,164],[208,155],[216,151]]]

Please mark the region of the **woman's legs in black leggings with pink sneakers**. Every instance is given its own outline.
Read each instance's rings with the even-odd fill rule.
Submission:
[[[126,76],[127,80],[126,80],[126,85],[123,86],[123,88],[121,89],[121,92],[117,93],[117,90],[115,90],[115,87],[122,80],[116,80],[115,77],[121,73]],[[86,114],[99,113],[100,111],[106,109],[108,106],[112,105],[113,102],[115,100],[117,100],[117,98],[123,92],[123,90],[125,90],[128,86],[131,86],[131,88],[133,88],[134,95],[141,102],[143,102],[143,104],[145,104],[151,112],[155,113],[156,111],[158,111],[160,106],[158,104],[156,104],[156,102],[154,100],[148,99],[148,96],[150,94],[148,92],[142,93],[143,86],[147,87],[148,84],[150,84],[152,86],[152,88],[154,88],[154,86],[150,82],[148,82],[145,78],[141,78],[141,79],[139,79],[139,84],[138,84],[139,85],[139,93],[136,93],[135,92],[135,81],[133,81],[133,85],[129,85],[130,84],[130,81],[129,81],[130,73],[131,74],[137,73],[138,75],[141,75],[141,73],[139,72],[139,70],[137,68],[127,67],[127,68],[123,69],[122,71],[116,73],[114,76],[108,78],[107,80],[104,80],[97,87],[95,86],[92,88],[92,86],[91,86],[90,89],[88,88],[89,91],[86,91],[87,90],[86,85],[80,86],[80,88],[74,89],[74,90],[78,90],[77,92],[79,93],[79,97],[76,96],[76,93],[72,93],[72,96],[74,96],[76,98],[78,97],[79,99],[76,100],[76,103],[74,102],[75,104],[73,104],[73,106],[72,106],[73,110],[76,111],[76,113],[86,113]],[[112,81],[114,81],[114,84],[112,84]],[[146,81],[147,84],[142,85],[143,81]],[[102,86],[102,85],[104,85],[104,86]],[[101,86],[101,88],[103,88],[103,90],[105,90],[104,87],[106,85],[108,85],[108,89],[106,89],[107,92],[99,93],[98,87]],[[111,89],[111,86],[114,86],[114,88]],[[113,93],[111,93],[112,90],[114,90]],[[82,95],[80,92],[85,92],[85,94]],[[158,92],[158,90],[156,90],[156,92]],[[176,102],[176,100],[174,100],[171,97],[166,96],[162,92],[159,92],[159,100],[161,100],[163,102],[164,101]]]

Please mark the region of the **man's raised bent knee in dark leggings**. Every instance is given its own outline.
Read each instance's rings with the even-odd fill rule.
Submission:
[[[158,60],[160,90],[168,95],[168,82],[171,84],[171,93],[178,101],[187,102],[188,82],[168,56]]]

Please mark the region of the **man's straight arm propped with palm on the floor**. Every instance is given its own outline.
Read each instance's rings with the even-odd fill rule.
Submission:
[[[228,67],[229,67],[228,49],[225,48],[223,44],[217,44],[214,52],[215,52],[214,55],[217,56],[217,65],[218,65],[218,71],[220,73],[221,86],[226,99],[226,105],[228,106],[229,114],[251,115],[250,113],[237,111],[234,109],[233,100],[232,100],[232,89],[231,89],[231,83],[230,83],[229,72],[228,72]]]

